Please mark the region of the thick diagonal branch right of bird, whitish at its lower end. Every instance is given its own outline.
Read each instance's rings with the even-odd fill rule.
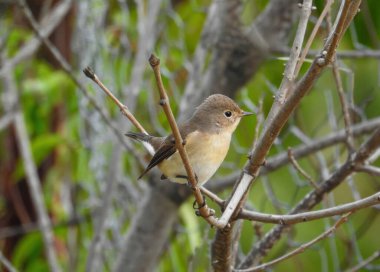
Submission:
[[[223,213],[221,217],[221,219],[223,218],[223,221],[220,222],[222,225],[227,224],[227,222],[229,222],[232,216],[230,212],[231,210],[233,210],[236,214],[244,205],[247,193],[249,191],[249,187],[253,184],[253,182],[259,175],[261,166],[265,164],[266,154],[268,153],[275,139],[281,132],[282,127],[288,121],[290,115],[298,106],[302,98],[311,89],[311,87],[313,86],[317,78],[320,76],[323,69],[326,68],[329,63],[331,63],[337,44],[342,38],[343,33],[348,26],[347,20],[352,20],[353,16],[356,14],[358,10],[359,4],[360,1],[354,1],[353,3],[349,0],[342,3],[342,12],[336,20],[336,27],[334,28],[334,31],[331,32],[328,40],[326,41],[321,55],[315,58],[305,76],[297,82],[294,90],[291,92],[291,95],[283,104],[283,106],[279,109],[279,111],[274,115],[273,119],[267,118],[268,123],[264,126],[264,131],[261,135],[259,143],[253,150],[249,163],[246,164],[246,166],[244,167],[241,178],[236,182],[233,194],[230,198],[230,200],[233,198],[238,198],[240,199],[240,201],[238,202],[238,205],[236,205],[236,201],[228,201],[228,205],[225,211],[228,212],[228,214],[226,214],[226,216],[223,216]],[[353,5],[354,7],[356,7],[356,9],[353,7]],[[250,180],[249,182],[243,183],[243,178],[245,180]]]

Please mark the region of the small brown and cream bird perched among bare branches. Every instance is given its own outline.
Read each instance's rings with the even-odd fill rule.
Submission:
[[[245,112],[229,97],[214,94],[195,110],[193,116],[179,126],[190,164],[199,185],[207,182],[222,164],[230,147],[231,136]],[[126,136],[152,145],[155,154],[140,175],[142,178],[154,166],[163,175],[161,179],[188,183],[186,170],[175,146],[173,135],[155,137],[143,133],[128,132]]]

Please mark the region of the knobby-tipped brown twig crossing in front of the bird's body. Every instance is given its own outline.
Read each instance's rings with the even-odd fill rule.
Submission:
[[[158,91],[160,93],[160,99],[161,99],[160,105],[164,109],[165,115],[170,124],[170,128],[173,132],[173,136],[175,138],[175,145],[181,156],[183,165],[186,169],[188,181],[191,185],[191,189],[193,191],[195,201],[199,207],[199,213],[211,225],[216,226],[217,228],[223,228],[225,227],[225,225],[219,224],[219,222],[217,221],[217,218],[214,216],[214,212],[207,206],[207,204],[204,203],[203,195],[197,184],[198,182],[195,178],[194,171],[190,165],[189,157],[187,156],[186,150],[184,148],[185,142],[183,141],[181,134],[179,132],[173,112],[170,108],[169,97],[167,96],[164,85],[162,83],[161,72],[160,72],[160,60],[155,55],[152,54],[149,58],[149,63],[153,69],[156,82],[157,82]]]

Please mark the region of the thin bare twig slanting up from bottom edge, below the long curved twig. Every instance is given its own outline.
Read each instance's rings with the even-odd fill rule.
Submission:
[[[258,266],[255,266],[255,267],[252,267],[252,268],[248,268],[248,269],[234,269],[233,271],[236,271],[236,272],[252,272],[252,271],[263,271],[265,269],[268,269],[269,267],[275,265],[275,264],[278,264],[282,261],[285,261],[295,255],[298,255],[298,254],[301,254],[303,253],[306,249],[308,249],[309,247],[311,247],[312,245],[316,244],[317,242],[325,239],[326,237],[328,237],[331,233],[334,233],[337,228],[340,227],[340,225],[342,225],[343,223],[347,222],[348,220],[348,217],[352,214],[352,212],[348,213],[347,215],[344,215],[342,216],[338,221],[336,221],[336,223],[329,229],[327,229],[326,231],[324,231],[323,233],[321,233],[320,235],[318,235],[316,238],[314,238],[313,240],[305,243],[305,244],[302,244],[301,246],[299,246],[298,248],[296,248],[295,250],[273,260],[273,261],[270,261],[270,262],[267,262],[267,263],[264,263],[264,264],[261,264],[261,265],[258,265]]]

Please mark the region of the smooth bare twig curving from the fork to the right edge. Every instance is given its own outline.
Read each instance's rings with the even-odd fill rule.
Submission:
[[[291,225],[296,223],[309,222],[312,220],[331,217],[335,215],[342,215],[348,212],[358,211],[374,205],[378,205],[379,203],[380,193],[376,193],[369,197],[351,203],[339,205],[336,207],[327,208],[319,211],[311,211],[289,215],[264,214],[243,209],[239,214],[239,218],[254,220],[263,223]]]

